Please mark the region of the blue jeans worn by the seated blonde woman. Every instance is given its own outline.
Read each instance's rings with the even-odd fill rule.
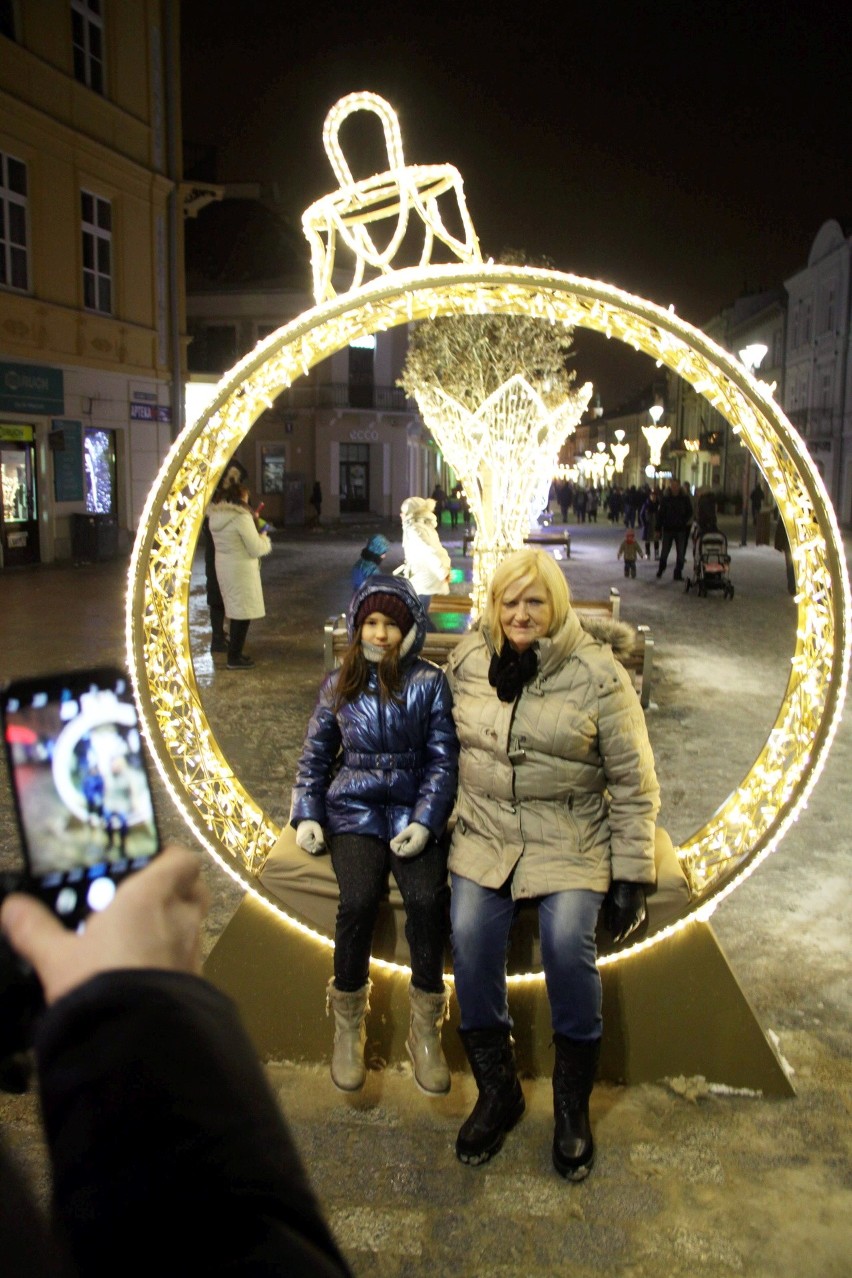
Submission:
[[[462,1030],[511,1029],[506,950],[517,912],[511,886],[480,887],[451,875],[452,967]],[[595,927],[603,892],[581,888],[538,898],[542,966],[556,1034],[598,1039],[600,974]]]

